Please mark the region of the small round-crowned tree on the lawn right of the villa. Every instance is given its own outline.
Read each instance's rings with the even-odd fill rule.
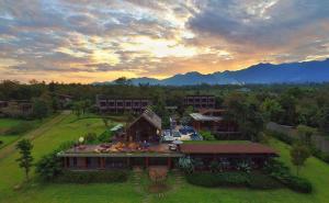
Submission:
[[[291,149],[291,158],[293,165],[296,166],[296,173],[298,176],[299,168],[304,166],[306,159],[310,156],[308,147],[302,144],[295,144]]]

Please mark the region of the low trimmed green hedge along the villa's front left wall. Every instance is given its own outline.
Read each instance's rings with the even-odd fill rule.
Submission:
[[[126,170],[111,171],[69,171],[66,170],[57,178],[57,182],[90,183],[90,182],[125,182],[128,178]]]

